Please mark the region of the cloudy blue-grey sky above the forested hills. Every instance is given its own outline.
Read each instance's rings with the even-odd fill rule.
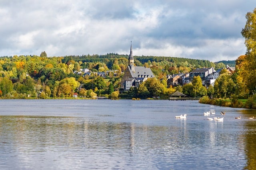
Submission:
[[[130,53],[235,60],[255,0],[0,0],[0,56]]]

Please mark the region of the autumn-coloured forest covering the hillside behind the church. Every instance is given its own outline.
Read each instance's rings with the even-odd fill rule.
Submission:
[[[175,91],[167,88],[166,76],[190,72],[195,68],[223,68],[224,63],[214,64],[207,60],[185,59],[178,57],[134,56],[137,66],[151,68],[156,76],[155,84],[161,84],[156,93],[146,84],[148,92],[137,91],[117,96],[156,97],[167,96]],[[85,97],[107,96],[118,92],[123,71],[128,65],[128,55],[82,55],[47,57],[46,52],[40,56],[0,57],[0,96],[2,98],[63,98],[73,94]],[[82,69],[88,68],[91,74],[84,75]],[[114,70],[109,71],[109,70]],[[105,72],[106,76],[98,76]],[[133,89],[136,90],[136,89]],[[132,90],[131,90],[132,91]],[[114,94],[113,94],[114,95]],[[113,96],[112,96],[113,97]],[[167,98],[166,97],[166,98]]]

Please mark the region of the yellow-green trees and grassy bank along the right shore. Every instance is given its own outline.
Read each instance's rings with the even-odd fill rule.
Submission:
[[[221,76],[214,84],[214,88],[221,88],[216,92],[216,98],[205,96],[202,103],[219,106],[243,107],[256,109],[256,8],[246,14],[246,24],[241,31],[245,38],[246,54],[236,59],[236,72],[228,77]],[[228,75],[225,75],[228,76]],[[218,99],[230,98],[230,101]],[[242,100],[247,99],[247,100]]]

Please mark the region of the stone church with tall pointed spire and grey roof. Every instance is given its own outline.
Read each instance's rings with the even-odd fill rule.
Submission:
[[[154,74],[150,68],[145,66],[134,66],[134,57],[132,55],[132,42],[130,48],[130,55],[128,58],[128,66],[124,71],[124,76],[121,80],[121,88],[124,92],[128,91],[132,86],[139,87],[139,85],[148,78],[154,78]]]

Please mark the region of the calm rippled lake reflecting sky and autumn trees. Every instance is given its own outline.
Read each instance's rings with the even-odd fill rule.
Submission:
[[[251,109],[198,100],[0,100],[0,108],[1,170],[256,167]]]

